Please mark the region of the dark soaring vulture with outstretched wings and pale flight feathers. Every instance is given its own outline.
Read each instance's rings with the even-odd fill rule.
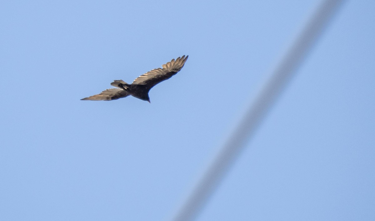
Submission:
[[[148,91],[163,80],[167,80],[177,74],[184,67],[187,57],[189,56],[178,57],[176,60],[172,59],[172,61],[163,64],[163,68],[148,71],[137,77],[132,84],[128,84],[123,80],[114,80],[111,85],[116,88],[107,89],[100,94],[81,100],[117,100],[118,98],[132,95],[133,97],[150,102]]]

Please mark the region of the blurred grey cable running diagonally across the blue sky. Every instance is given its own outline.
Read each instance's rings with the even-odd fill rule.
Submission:
[[[324,28],[332,19],[343,0],[325,0],[321,3],[296,41],[291,45],[285,56],[273,70],[270,79],[259,92],[257,98],[249,106],[240,123],[222,145],[219,154],[205,170],[184,204],[173,217],[173,221],[191,221],[202,210],[208,198],[223,180],[229,168],[245,144],[254,135],[270,107],[275,104],[282,91],[295,75],[297,68],[306,58],[308,52],[321,36]]]

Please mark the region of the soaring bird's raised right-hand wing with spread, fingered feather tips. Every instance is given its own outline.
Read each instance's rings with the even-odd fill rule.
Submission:
[[[144,85],[148,89],[151,89],[157,83],[167,80],[175,75],[178,71],[184,67],[184,64],[189,56],[178,57],[176,60],[172,59],[171,62],[168,62],[163,65],[163,68],[157,68],[152,71],[148,71],[145,74],[137,77],[132,84]]]

